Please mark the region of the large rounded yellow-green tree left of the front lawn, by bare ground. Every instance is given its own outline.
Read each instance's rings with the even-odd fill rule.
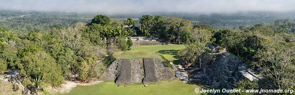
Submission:
[[[59,86],[64,80],[61,67],[45,51],[29,53],[22,58],[22,66],[22,73],[32,77],[34,82],[37,83],[37,89],[42,82]]]

